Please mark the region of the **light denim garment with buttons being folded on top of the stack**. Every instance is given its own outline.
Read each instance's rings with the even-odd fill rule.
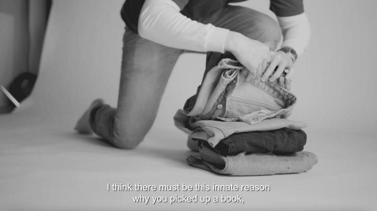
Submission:
[[[250,125],[268,118],[288,118],[296,103],[283,76],[262,82],[261,75],[246,81],[249,71],[238,61],[225,58],[205,76],[198,92],[184,110],[190,122],[198,120],[242,121]]]

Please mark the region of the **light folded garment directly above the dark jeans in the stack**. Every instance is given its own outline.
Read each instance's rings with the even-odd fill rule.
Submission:
[[[272,131],[282,128],[300,130],[307,126],[304,122],[278,118],[265,119],[253,125],[246,122],[223,122],[215,120],[190,121],[192,118],[187,114],[188,111],[179,109],[174,116],[175,126],[191,138],[208,141],[211,147],[215,147],[222,139],[234,133]]]

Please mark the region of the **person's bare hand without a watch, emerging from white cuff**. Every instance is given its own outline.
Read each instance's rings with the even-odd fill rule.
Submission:
[[[250,80],[253,75],[262,73],[270,59],[269,47],[257,40],[250,39],[241,33],[229,31],[225,46],[251,74],[246,78]]]

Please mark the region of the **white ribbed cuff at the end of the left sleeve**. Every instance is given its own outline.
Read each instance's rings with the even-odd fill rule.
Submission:
[[[206,37],[205,51],[225,53],[224,46],[229,29],[211,26]]]

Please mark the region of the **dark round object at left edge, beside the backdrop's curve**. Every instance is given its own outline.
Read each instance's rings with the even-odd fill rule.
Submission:
[[[36,79],[37,76],[32,73],[22,73],[10,84],[9,93],[18,102],[23,101],[31,93]]]

